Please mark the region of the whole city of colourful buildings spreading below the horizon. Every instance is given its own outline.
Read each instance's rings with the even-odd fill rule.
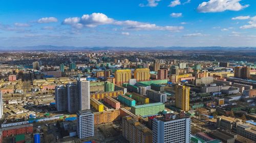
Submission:
[[[256,52],[0,53],[0,142],[256,142]]]

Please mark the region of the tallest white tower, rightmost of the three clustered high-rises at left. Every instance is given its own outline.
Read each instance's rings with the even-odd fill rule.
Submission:
[[[77,81],[77,109],[90,109],[90,81],[86,78],[80,78]]]

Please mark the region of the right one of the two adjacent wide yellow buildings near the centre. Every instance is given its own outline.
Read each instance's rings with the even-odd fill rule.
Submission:
[[[137,81],[146,81],[150,80],[150,69],[135,69],[134,70],[134,78]]]

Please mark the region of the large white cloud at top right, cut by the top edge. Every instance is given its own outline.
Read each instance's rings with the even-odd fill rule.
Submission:
[[[226,10],[240,11],[249,5],[241,5],[239,2],[241,0],[210,0],[208,2],[203,2],[197,8],[199,12],[223,12]]]

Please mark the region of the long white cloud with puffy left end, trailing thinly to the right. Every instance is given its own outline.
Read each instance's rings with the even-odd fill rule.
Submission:
[[[161,30],[161,31],[179,31],[183,30],[183,26],[158,26],[152,23],[139,22],[133,20],[124,20],[119,21],[113,18],[109,18],[103,13],[92,13],[85,14],[81,18],[79,17],[70,17],[66,18],[62,24],[72,25],[73,27],[81,28],[81,27],[96,27],[98,25],[120,25],[124,26],[124,28],[130,30]]]

